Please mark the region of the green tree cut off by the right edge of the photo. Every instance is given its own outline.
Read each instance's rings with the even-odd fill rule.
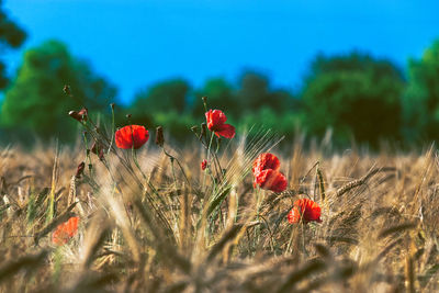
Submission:
[[[439,40],[420,60],[408,63],[404,117],[409,142],[439,139]]]

